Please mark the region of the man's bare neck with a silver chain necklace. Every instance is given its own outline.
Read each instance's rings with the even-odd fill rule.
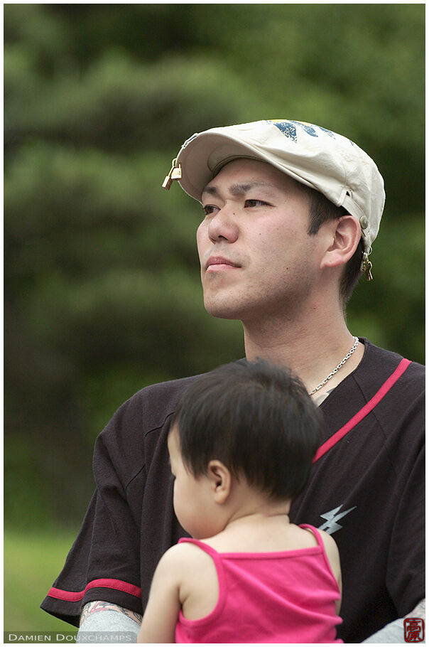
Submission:
[[[303,380],[308,391],[313,390],[342,361],[354,340],[340,309],[329,315],[305,312],[299,318],[272,318],[265,322],[243,323],[246,358],[264,358],[288,366]],[[364,354],[359,343],[338,372],[332,376],[317,397],[339,384],[357,367]]]

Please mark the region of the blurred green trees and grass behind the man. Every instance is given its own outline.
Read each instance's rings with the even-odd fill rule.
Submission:
[[[136,390],[243,355],[202,306],[194,132],[300,119],[375,160],[386,209],[352,333],[424,360],[424,4],[4,5],[4,629],[38,609]]]

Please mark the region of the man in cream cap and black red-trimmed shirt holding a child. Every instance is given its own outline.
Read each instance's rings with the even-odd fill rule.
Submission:
[[[163,186],[174,180],[202,202],[207,311],[239,319],[246,358],[289,365],[325,417],[290,520],[335,533],[340,637],[361,642],[382,630],[371,640],[402,641],[391,623],[421,617],[413,609],[424,598],[423,367],[352,336],[344,319],[361,272],[371,279],[381,175],[349,139],[283,120],[193,135]],[[185,534],[172,510],[166,437],[195,379],[143,389],[97,439],[97,491],[42,604],[80,620],[81,631],[125,629],[121,621],[137,631],[153,570]]]

